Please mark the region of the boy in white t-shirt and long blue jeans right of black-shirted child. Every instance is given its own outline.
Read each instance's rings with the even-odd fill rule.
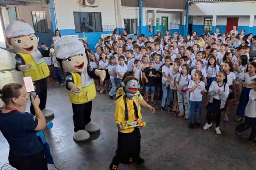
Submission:
[[[167,112],[165,109],[165,104],[168,108],[171,108],[171,89],[168,86],[167,81],[171,81],[171,73],[173,72],[173,68],[171,67],[171,57],[165,57],[165,65],[162,67],[162,90],[163,90],[163,97],[161,103],[161,111]]]

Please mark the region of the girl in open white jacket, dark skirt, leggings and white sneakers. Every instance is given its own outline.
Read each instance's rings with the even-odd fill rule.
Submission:
[[[211,83],[209,88],[209,103],[207,109],[207,122],[203,126],[204,130],[209,129],[212,126],[211,117],[213,113],[216,113],[216,127],[215,131],[219,135],[221,131],[219,129],[219,123],[221,121],[221,112],[225,108],[226,100],[229,95],[229,87],[227,84],[227,74],[224,70],[217,73],[217,81]]]

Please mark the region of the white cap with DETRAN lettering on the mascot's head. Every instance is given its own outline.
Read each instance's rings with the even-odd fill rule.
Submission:
[[[59,59],[77,56],[85,53],[83,43],[72,37],[63,37],[54,43],[54,52]]]

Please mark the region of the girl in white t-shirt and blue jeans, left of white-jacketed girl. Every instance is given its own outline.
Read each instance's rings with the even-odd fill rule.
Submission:
[[[205,89],[205,83],[203,82],[204,77],[200,70],[195,70],[193,72],[193,80],[189,82],[189,128],[193,128],[194,125],[194,113],[195,108],[197,108],[197,123],[200,125],[201,122],[201,110],[203,103],[203,93],[207,93]]]

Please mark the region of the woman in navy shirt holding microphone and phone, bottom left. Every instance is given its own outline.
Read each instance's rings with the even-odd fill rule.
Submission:
[[[0,131],[10,145],[9,163],[17,170],[47,170],[46,155],[37,131],[46,128],[46,120],[39,104],[38,96],[31,97],[35,115],[23,113],[21,107],[26,105],[29,93],[18,83],[10,83],[0,90],[0,98],[5,107],[0,108]]]

